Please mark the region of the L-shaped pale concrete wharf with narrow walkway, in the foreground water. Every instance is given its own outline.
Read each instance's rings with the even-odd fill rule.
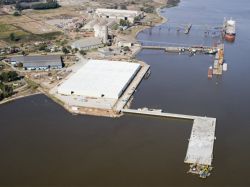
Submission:
[[[188,164],[211,166],[215,140],[215,118],[165,113],[161,110],[149,110],[147,108],[137,110],[122,109],[121,111],[130,114],[193,120],[194,123],[184,162]]]

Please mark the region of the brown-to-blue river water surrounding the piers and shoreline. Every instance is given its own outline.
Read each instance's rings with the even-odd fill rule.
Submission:
[[[0,185],[249,186],[249,5],[247,0],[183,0],[163,14],[171,28],[192,22],[190,35],[177,35],[165,24],[138,36],[211,44],[218,38],[203,37],[203,22],[218,25],[225,16],[237,20],[236,42],[225,46],[229,70],[222,77],[207,80],[211,56],[150,50],[138,55],[152,74],[136,92],[133,108],[217,118],[215,170],[207,180],[186,174],[191,122],[73,116],[39,95],[0,107]]]

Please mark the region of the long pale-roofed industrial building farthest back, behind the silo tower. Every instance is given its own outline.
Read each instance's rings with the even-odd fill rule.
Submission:
[[[134,23],[136,17],[141,19],[144,16],[142,11],[103,9],[103,8],[96,9],[96,15],[100,18],[128,20],[131,23]]]

